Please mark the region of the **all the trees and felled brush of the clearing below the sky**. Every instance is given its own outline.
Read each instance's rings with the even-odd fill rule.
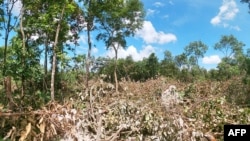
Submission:
[[[140,0],[0,0],[0,14],[0,141],[223,140],[225,124],[250,123],[250,48],[234,35],[207,70],[200,40],[162,60],[118,58],[142,28]],[[93,56],[92,38],[115,57]]]

